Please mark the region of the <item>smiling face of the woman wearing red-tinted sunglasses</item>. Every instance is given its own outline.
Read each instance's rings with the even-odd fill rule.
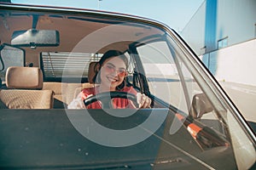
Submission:
[[[124,81],[126,74],[126,65],[122,59],[106,59],[101,68],[101,85],[114,91]]]

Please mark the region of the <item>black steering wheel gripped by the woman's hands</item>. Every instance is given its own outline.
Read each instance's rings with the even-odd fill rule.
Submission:
[[[108,108],[113,109],[112,99],[113,98],[121,98],[121,99],[130,99],[132,103],[138,107],[137,104],[137,96],[135,94],[130,94],[127,92],[104,92],[101,94],[96,94],[93,96],[90,96],[87,99],[84,99],[84,105],[90,105],[93,102],[101,101],[102,102],[102,108]]]

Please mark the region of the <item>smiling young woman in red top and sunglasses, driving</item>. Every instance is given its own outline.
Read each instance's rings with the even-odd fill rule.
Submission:
[[[109,91],[127,92],[137,96],[139,108],[148,108],[151,105],[151,99],[147,95],[137,93],[137,91],[125,85],[127,76],[128,59],[124,54],[117,50],[109,50],[103,54],[102,59],[96,65],[96,75],[93,78],[94,88],[84,88],[76,99],[67,106],[68,109],[100,109],[101,102],[96,101],[85,107],[83,100],[88,97]],[[129,99],[113,99],[113,108],[135,108],[135,105]]]

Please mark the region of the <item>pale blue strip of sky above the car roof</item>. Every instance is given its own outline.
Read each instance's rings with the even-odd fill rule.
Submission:
[[[183,30],[203,2],[204,0],[12,0],[12,3],[90,8],[133,14],[158,20],[176,31]]]

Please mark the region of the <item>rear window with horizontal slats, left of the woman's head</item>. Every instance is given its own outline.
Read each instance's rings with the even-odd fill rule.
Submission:
[[[44,79],[87,78],[90,62],[99,61],[102,54],[43,52],[40,54],[40,68]]]

